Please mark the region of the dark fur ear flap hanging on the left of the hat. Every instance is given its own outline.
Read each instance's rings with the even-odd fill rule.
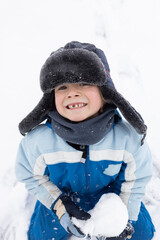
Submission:
[[[54,94],[45,93],[37,106],[19,123],[19,131],[22,135],[32,130],[43,122],[49,111],[53,110]]]

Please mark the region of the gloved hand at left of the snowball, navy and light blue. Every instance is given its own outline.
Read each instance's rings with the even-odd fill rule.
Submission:
[[[75,217],[80,220],[87,220],[91,217],[91,215],[77,206],[70,197],[61,195],[55,203],[53,211],[67,232],[79,238],[85,237],[85,234],[71,222],[71,218]]]

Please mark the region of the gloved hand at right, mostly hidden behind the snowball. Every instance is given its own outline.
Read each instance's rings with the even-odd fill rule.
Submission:
[[[128,222],[126,228],[123,230],[123,232],[118,237],[110,237],[110,238],[106,238],[105,240],[127,240],[127,239],[131,239],[133,233],[134,233],[134,228],[131,225],[131,223]]]

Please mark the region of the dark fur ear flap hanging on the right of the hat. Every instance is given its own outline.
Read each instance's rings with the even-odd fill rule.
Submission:
[[[115,104],[125,119],[135,128],[139,134],[146,135],[147,126],[141,115],[131,106],[131,104],[119,93],[107,85],[101,88],[103,97],[106,101]]]

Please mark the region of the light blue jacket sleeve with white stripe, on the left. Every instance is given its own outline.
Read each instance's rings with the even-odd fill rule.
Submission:
[[[27,190],[33,194],[48,209],[59,197],[61,191],[55,186],[47,175],[47,166],[43,154],[36,152],[29,144],[26,135],[17,152],[15,173],[17,179],[25,183]]]

